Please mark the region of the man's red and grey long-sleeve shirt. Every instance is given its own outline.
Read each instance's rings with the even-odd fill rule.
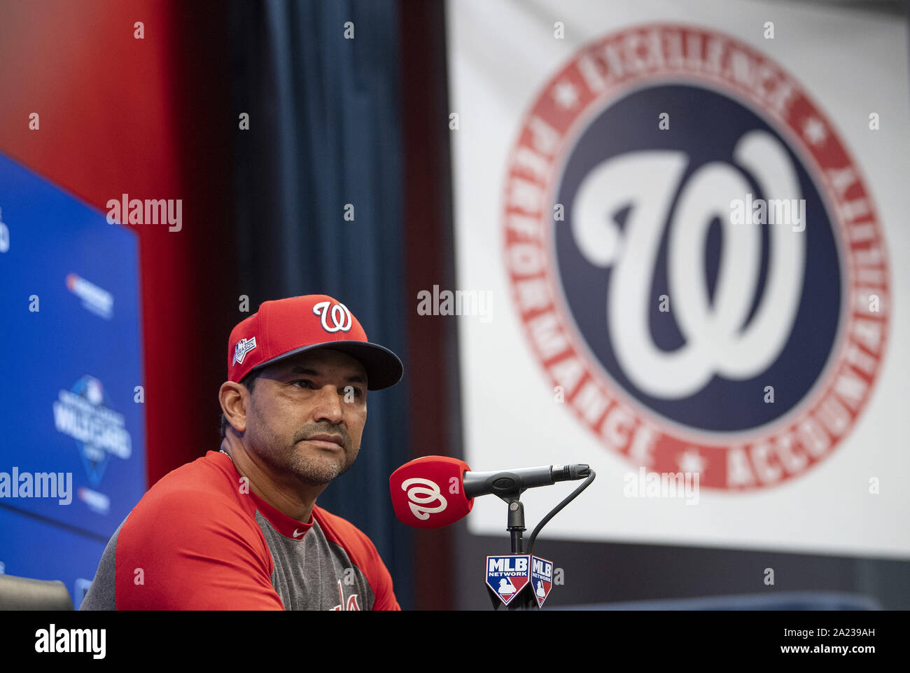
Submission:
[[[148,490],[110,541],[83,610],[399,610],[356,526],[319,506],[301,524],[209,451]]]

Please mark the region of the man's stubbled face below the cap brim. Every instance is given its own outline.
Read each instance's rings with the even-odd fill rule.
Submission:
[[[345,353],[319,349],[259,374],[244,444],[275,473],[320,486],[354,463],[366,422],[363,365]]]

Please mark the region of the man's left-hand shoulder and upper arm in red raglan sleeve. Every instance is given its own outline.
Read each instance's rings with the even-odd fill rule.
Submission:
[[[282,609],[270,579],[274,562],[245,494],[226,454],[209,452],[162,477],[108,543],[97,589],[107,592],[105,605]]]

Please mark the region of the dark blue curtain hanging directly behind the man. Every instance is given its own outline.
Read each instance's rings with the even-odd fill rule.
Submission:
[[[411,535],[389,499],[389,474],[410,460],[398,7],[244,0],[230,12],[238,285],[250,313],[329,294],[404,362],[398,385],[369,393],[357,462],[319,505],[369,535],[407,609]]]

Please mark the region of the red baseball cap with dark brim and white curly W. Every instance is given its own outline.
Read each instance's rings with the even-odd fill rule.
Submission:
[[[359,360],[367,371],[367,390],[395,385],[404,372],[398,355],[367,340],[367,332],[347,306],[327,294],[305,294],[263,301],[257,312],[231,330],[227,379],[240,382],[254,369],[317,348]]]

